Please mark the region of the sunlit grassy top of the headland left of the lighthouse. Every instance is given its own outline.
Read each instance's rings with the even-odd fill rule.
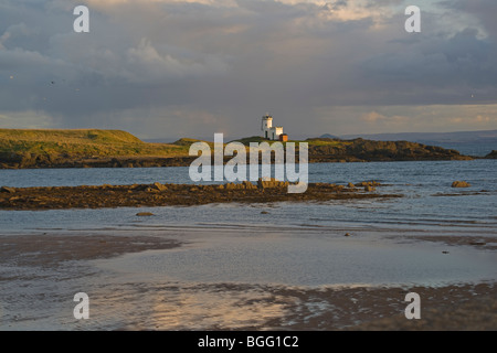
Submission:
[[[181,145],[147,143],[121,130],[0,129],[0,152],[68,156],[183,156]]]

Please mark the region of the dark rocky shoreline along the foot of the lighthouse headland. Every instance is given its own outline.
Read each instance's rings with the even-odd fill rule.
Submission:
[[[308,139],[310,163],[473,160],[456,150],[409,141]],[[186,150],[188,153],[188,149]],[[298,153],[298,148],[297,148]],[[494,156],[494,157],[493,157]],[[495,158],[489,154],[486,158]],[[86,156],[68,152],[1,152],[0,169],[189,167],[190,156]],[[224,158],[224,162],[231,157]],[[297,159],[298,160],[298,159]],[[250,157],[247,156],[247,163]]]

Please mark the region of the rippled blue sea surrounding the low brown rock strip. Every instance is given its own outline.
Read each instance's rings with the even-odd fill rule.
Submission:
[[[347,184],[374,180],[382,193],[401,199],[278,203],[273,205],[204,205],[147,208],[157,217],[148,226],[250,226],[269,223],[290,227],[399,228],[494,234],[497,228],[497,161],[378,162],[309,164],[310,182]],[[455,180],[472,184],[453,189]],[[192,183],[188,168],[0,170],[0,185],[61,186],[134,183]],[[271,217],[261,208],[271,207]],[[0,211],[4,232],[57,228],[136,227],[136,208]],[[159,216],[160,215],[160,216]]]

